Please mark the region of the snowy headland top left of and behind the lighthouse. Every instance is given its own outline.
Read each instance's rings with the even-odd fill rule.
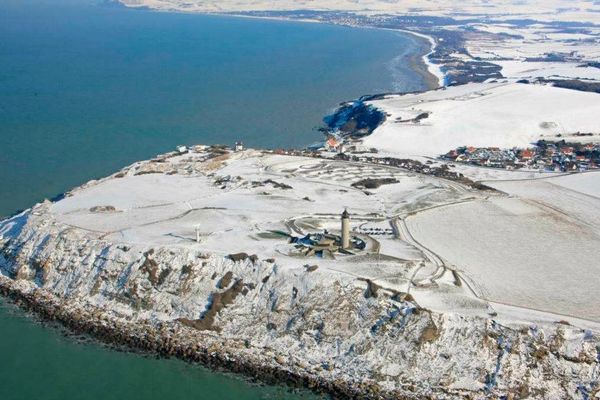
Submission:
[[[170,159],[172,163],[185,160],[186,156]],[[384,220],[414,206],[419,198],[449,187],[383,166],[342,166],[335,161],[266,157],[258,152],[223,165],[217,173],[167,178],[157,173],[130,174],[77,190],[50,210],[57,222],[104,240],[202,248],[223,254],[262,250],[260,255],[269,258],[280,255],[285,240],[258,240],[258,235],[285,231],[286,221],[292,218],[322,214],[337,221],[343,208],[349,207],[356,223],[361,221],[360,215],[375,214]],[[223,182],[215,184],[219,177]],[[365,177],[394,178],[399,183],[367,196],[351,186]],[[288,182],[291,188],[263,183],[269,179]],[[449,188],[451,197],[453,190]],[[91,211],[101,206],[115,210]],[[337,225],[334,231],[339,229]],[[195,242],[196,231],[200,244]],[[289,260],[281,266],[288,263],[303,265]]]

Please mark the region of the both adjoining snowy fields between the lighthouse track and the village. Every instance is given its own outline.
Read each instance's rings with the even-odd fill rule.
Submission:
[[[598,321],[600,174],[461,171],[511,197],[419,212],[415,239],[489,300]]]

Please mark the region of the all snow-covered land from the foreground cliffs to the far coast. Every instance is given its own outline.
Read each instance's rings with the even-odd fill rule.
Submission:
[[[598,396],[600,173],[437,158],[600,141],[597,4],[123,3],[410,30],[444,87],[366,97],[376,123],[334,140],[342,154],[197,146],[0,221],[0,292],[103,340],[341,398]],[[361,246],[339,248],[344,208]]]

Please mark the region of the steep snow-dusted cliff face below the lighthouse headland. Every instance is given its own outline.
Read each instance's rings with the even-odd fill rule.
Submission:
[[[67,317],[140,341],[154,340],[148,329],[157,327],[179,356],[218,353],[348,396],[597,393],[596,334],[432,312],[371,281],[277,259],[108,241],[58,221],[52,207],[0,222],[4,292],[37,293]]]

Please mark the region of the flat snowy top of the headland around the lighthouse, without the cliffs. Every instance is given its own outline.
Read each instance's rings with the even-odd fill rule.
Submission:
[[[217,161],[205,158],[205,153],[190,153],[135,164],[119,177],[74,190],[49,207],[50,215],[57,224],[111,243],[222,256],[246,252],[275,259],[280,270],[318,264],[322,273],[411,292],[417,302],[437,311],[486,316],[491,309],[485,300],[492,300],[521,309],[518,313],[539,309],[600,322],[593,299],[585,301],[597,271],[579,267],[600,244],[599,232],[586,228],[589,232],[582,236],[582,227],[600,226],[595,221],[600,200],[567,188],[589,185],[589,180],[495,180],[493,186],[519,198],[490,197],[383,165],[253,150]],[[368,191],[351,186],[365,178],[398,183]],[[542,206],[540,196],[546,193],[565,200]],[[108,211],[98,211],[107,206]],[[368,242],[364,254],[338,255],[336,260],[299,257],[285,238],[269,234],[339,232],[339,214],[346,207],[353,231]],[[561,209],[579,219],[566,218]],[[464,273],[471,286],[457,286],[452,269]],[[579,281],[590,287],[579,286],[579,295],[573,295]],[[548,304],[548,296],[556,301]],[[498,318],[513,317],[508,312]]]

